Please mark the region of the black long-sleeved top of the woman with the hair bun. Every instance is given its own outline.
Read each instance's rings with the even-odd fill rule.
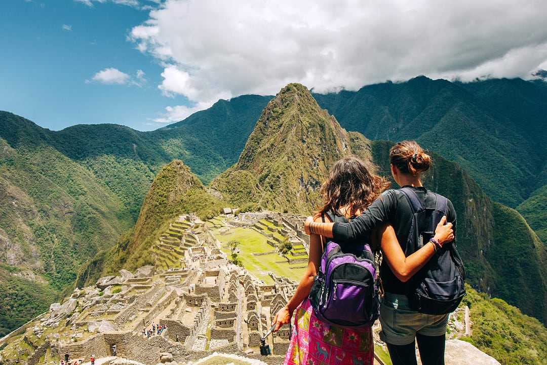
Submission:
[[[424,206],[435,206],[435,199],[437,199],[435,194],[424,187],[410,188],[414,189],[418,198],[424,202]],[[447,202],[446,220],[453,224],[453,229],[456,233],[456,211],[450,200]],[[390,189],[383,192],[373,204],[351,222],[335,223],[333,236],[335,240],[341,241],[369,239],[374,228],[381,227],[383,224],[391,224],[399,240],[399,245],[403,249],[403,252],[405,252],[411,221],[412,208],[408,200],[403,193],[397,192],[395,189]],[[397,279],[386,260],[382,260],[380,278],[382,279],[383,289],[386,292],[406,294],[405,283]]]

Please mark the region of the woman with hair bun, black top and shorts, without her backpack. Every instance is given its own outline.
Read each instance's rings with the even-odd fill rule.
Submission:
[[[389,152],[389,162],[393,179],[399,186],[414,190],[424,206],[435,206],[437,195],[424,188],[420,178],[420,174],[432,166],[432,159],[416,142],[395,144]],[[435,236],[437,243],[434,240],[427,242],[420,250],[405,257],[413,215],[405,194],[391,189],[349,223],[315,223],[308,218],[305,230],[306,233],[321,233],[325,237],[334,237],[335,241],[344,241],[363,239],[377,228],[376,235],[383,253],[380,278],[385,292],[380,309],[380,338],[387,343],[391,361],[393,365],[415,365],[417,339],[422,364],[443,365],[449,314],[429,315],[411,309],[406,294],[411,289],[408,280],[433,257],[439,249],[437,243],[442,247],[455,236],[452,234],[447,240]],[[456,224],[456,211],[450,200],[447,201],[447,217],[443,217],[439,225],[446,220]],[[446,227],[451,227],[451,223]]]

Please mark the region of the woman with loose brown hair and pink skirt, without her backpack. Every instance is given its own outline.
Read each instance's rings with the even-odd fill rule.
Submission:
[[[325,214],[327,212],[352,219],[363,212],[388,186],[389,184],[384,178],[371,173],[366,164],[357,156],[345,157],[334,164],[327,181],[321,187],[323,206],[316,214],[315,221],[321,222],[322,216],[326,221],[330,221]],[[444,227],[444,236],[439,239],[444,239],[450,233],[450,228]],[[362,245],[375,237],[375,235],[369,234],[360,237],[359,240],[340,240],[337,243],[340,245]],[[397,238],[394,235],[392,239],[397,244]],[[323,239],[323,241],[325,240]],[[371,247],[378,246],[378,242],[372,242]],[[331,326],[320,321],[313,312],[307,297],[319,268],[321,247],[321,237],[318,234],[311,234],[306,273],[293,297],[274,317],[275,331],[277,331],[282,325],[289,323],[293,311],[296,309],[295,331],[284,364],[326,363],[331,358],[335,358],[337,363],[372,364],[374,343],[370,328],[355,331]],[[425,260],[427,258],[424,257],[423,262]],[[416,265],[423,262],[417,261]]]

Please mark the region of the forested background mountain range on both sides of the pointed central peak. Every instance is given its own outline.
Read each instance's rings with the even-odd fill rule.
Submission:
[[[351,130],[348,125],[352,123],[364,129],[381,121],[383,124],[379,123],[377,128],[382,125],[386,137],[398,138],[397,131],[404,130],[405,125],[407,130],[423,129],[418,142],[461,164],[493,200],[516,207],[545,242],[542,187],[547,184],[547,164],[543,161],[542,165],[540,157],[545,155],[541,126],[545,121],[546,85],[519,79],[462,84],[419,77],[406,83],[382,83],[364,86],[358,91],[312,96],[319,101],[319,106],[334,110],[332,114],[337,122],[347,130]],[[455,101],[450,100],[450,92],[459,95],[458,108],[453,107]],[[229,101],[220,100],[214,108],[150,132],[116,124],[74,125],[51,131],[13,113],[0,112],[0,140],[5,141],[0,144],[4,153],[0,153],[0,177],[3,178],[0,179],[0,201],[10,207],[0,216],[0,247],[3,248],[0,262],[22,270],[27,277],[55,281],[52,282],[55,288],[51,290],[58,292],[78,271],[75,266],[79,265],[80,258],[73,261],[74,250],[82,248],[93,252],[111,246],[121,232],[135,223],[148,189],[162,166],[173,159],[182,159],[205,183],[227,169],[230,171],[261,111],[272,98],[244,95]],[[481,121],[483,117],[486,124]],[[420,119],[423,123],[417,123]],[[464,124],[465,120],[469,123]],[[433,121],[439,126],[429,130]],[[476,148],[473,139],[462,147],[454,138],[449,138],[469,135],[465,129],[451,130],[451,125],[473,126],[477,131],[475,136],[485,136],[484,125],[496,123],[502,127],[492,129],[491,135],[484,137],[486,141],[493,138],[492,143],[502,146],[493,150]],[[392,125],[399,129],[391,130]],[[524,131],[517,130],[514,134],[515,128],[521,125]],[[410,136],[400,131],[399,135]],[[366,144],[363,141],[359,143]],[[509,147],[503,147],[504,144]],[[520,146],[523,146],[521,151],[515,150]],[[363,150],[367,148],[371,147]],[[499,157],[500,151],[507,157]],[[500,174],[502,178],[498,179],[496,176]],[[248,199],[248,190],[263,199],[267,197],[257,176],[243,170],[232,172],[231,176],[225,184],[232,192],[240,189],[235,195],[239,195],[242,203]],[[319,179],[315,177],[315,181],[317,184]],[[91,190],[100,192],[101,198],[85,199],[90,190],[88,184]],[[55,194],[48,196],[49,191]],[[11,208],[13,196],[19,208]],[[508,196],[510,201],[505,199]],[[55,199],[59,204],[50,204]],[[258,201],[255,206],[261,204],[259,199],[253,200]],[[16,224],[17,215],[33,217],[32,224]],[[96,219],[106,223],[93,223]],[[91,224],[97,227],[95,231],[89,230]],[[74,238],[71,232],[83,234]],[[40,242],[57,242],[55,247],[62,252],[59,255],[62,259],[55,262],[51,259],[51,250],[38,249],[36,237]],[[33,258],[42,264],[20,264],[17,257]],[[84,254],[81,259],[86,257]],[[44,267],[56,274],[48,276]],[[33,281],[27,284],[32,286]],[[486,290],[487,286],[482,289]]]

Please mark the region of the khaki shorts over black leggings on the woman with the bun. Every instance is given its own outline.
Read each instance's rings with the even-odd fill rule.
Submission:
[[[380,306],[380,339],[392,345],[414,342],[416,333],[441,336],[446,333],[449,314],[422,314],[409,308],[408,298],[401,294],[386,293]]]

